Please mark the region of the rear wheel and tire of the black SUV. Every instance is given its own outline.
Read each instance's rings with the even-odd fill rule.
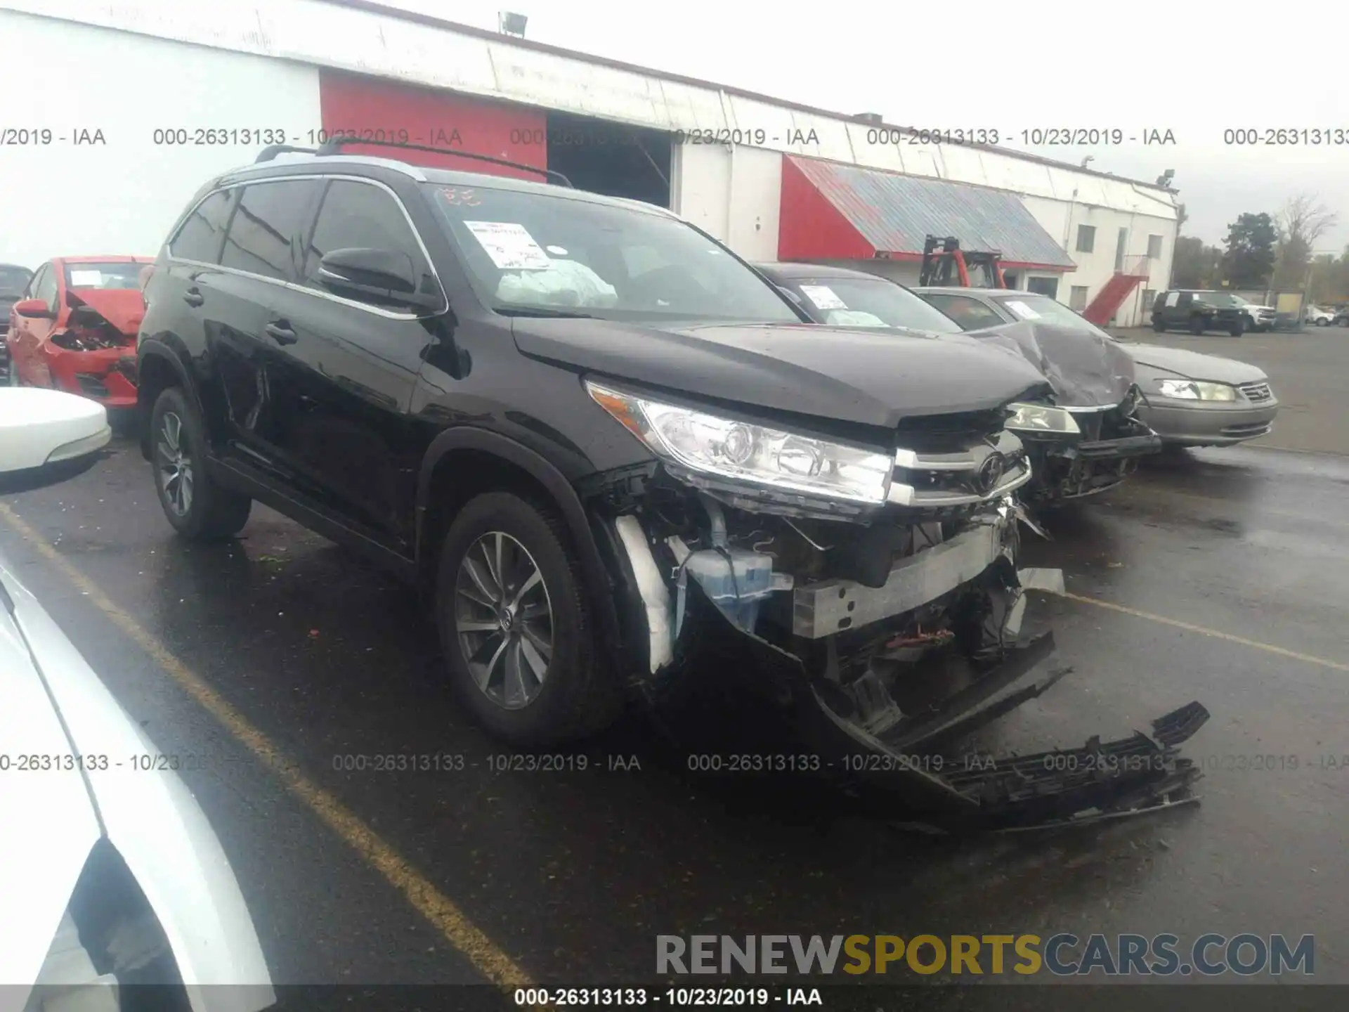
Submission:
[[[175,386],[159,394],[150,414],[150,459],[159,505],[178,534],[209,542],[243,530],[252,499],[210,476],[201,420]]]

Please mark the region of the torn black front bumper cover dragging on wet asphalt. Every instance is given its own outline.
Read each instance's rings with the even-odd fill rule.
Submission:
[[[1176,748],[1209,718],[1197,702],[1153,721],[1151,734],[1025,756],[962,752],[971,734],[1070,673],[1044,669],[1052,633],[1008,644],[955,691],[901,710],[878,684],[870,698],[866,679],[844,692],[827,669],[742,631],[696,583],[685,607],[672,663],[643,680],[653,704],[689,680],[735,680],[785,712],[826,775],[902,823],[948,834],[1048,828],[1198,800],[1201,770]]]

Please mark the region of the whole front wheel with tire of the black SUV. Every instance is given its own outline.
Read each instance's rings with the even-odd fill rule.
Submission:
[[[542,503],[487,493],[459,511],[441,545],[436,619],[455,692],[517,748],[584,738],[622,708],[567,529]]]

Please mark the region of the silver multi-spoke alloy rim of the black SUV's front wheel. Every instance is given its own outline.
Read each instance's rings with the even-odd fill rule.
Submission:
[[[553,609],[529,551],[500,530],[473,541],[459,564],[453,609],[478,688],[505,710],[537,699],[553,656]]]

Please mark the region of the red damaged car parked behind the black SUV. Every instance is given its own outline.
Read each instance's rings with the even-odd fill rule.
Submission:
[[[144,256],[47,260],[9,309],[9,385],[136,405],[136,331],[146,314]]]

